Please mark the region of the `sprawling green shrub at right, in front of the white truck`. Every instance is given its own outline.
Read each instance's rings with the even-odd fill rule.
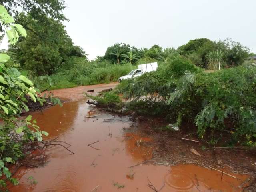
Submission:
[[[132,98],[128,108],[141,114],[169,114],[176,124],[194,122],[198,136],[256,146],[256,68],[239,66],[204,73],[183,58],[161,64],[156,72],[124,81],[116,92]],[[214,143],[212,142],[212,143]]]

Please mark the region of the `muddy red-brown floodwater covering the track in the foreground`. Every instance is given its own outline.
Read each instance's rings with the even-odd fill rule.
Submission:
[[[153,149],[146,145],[151,139],[128,133],[126,129],[133,125],[127,117],[98,112],[86,100],[32,115],[50,134],[45,139],[58,136],[58,140],[71,144],[69,149],[75,154],[60,146],[48,148],[46,165],[20,168],[15,175],[20,185],[10,187],[11,192],[153,192],[149,181],[156,190],[162,188],[161,192],[236,192],[241,191],[241,180],[247,178],[232,174],[237,180],[194,165],[134,166],[152,157]],[[37,184],[29,179],[31,176]]]

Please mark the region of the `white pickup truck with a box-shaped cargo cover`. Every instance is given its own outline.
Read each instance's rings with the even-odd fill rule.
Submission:
[[[118,78],[118,82],[121,82],[124,79],[131,79],[134,77],[141,76],[146,72],[156,71],[156,69],[157,69],[157,62],[138,65],[138,69],[134,69],[127,75]]]

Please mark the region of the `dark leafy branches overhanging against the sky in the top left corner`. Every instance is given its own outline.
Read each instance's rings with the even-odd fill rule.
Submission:
[[[38,20],[39,23],[47,25],[46,16],[50,16],[53,19],[64,21],[67,18],[62,13],[65,8],[64,0],[0,0],[0,4],[4,5],[11,16],[18,16],[19,10],[29,13],[30,16]],[[25,28],[29,23],[24,23]],[[18,22],[18,24],[20,24]],[[0,26],[0,31],[4,30],[3,26]]]

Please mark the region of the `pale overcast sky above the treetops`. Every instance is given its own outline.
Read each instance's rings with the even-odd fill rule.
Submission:
[[[124,42],[178,47],[232,38],[256,53],[256,0],[66,0],[66,30],[90,59]]]

